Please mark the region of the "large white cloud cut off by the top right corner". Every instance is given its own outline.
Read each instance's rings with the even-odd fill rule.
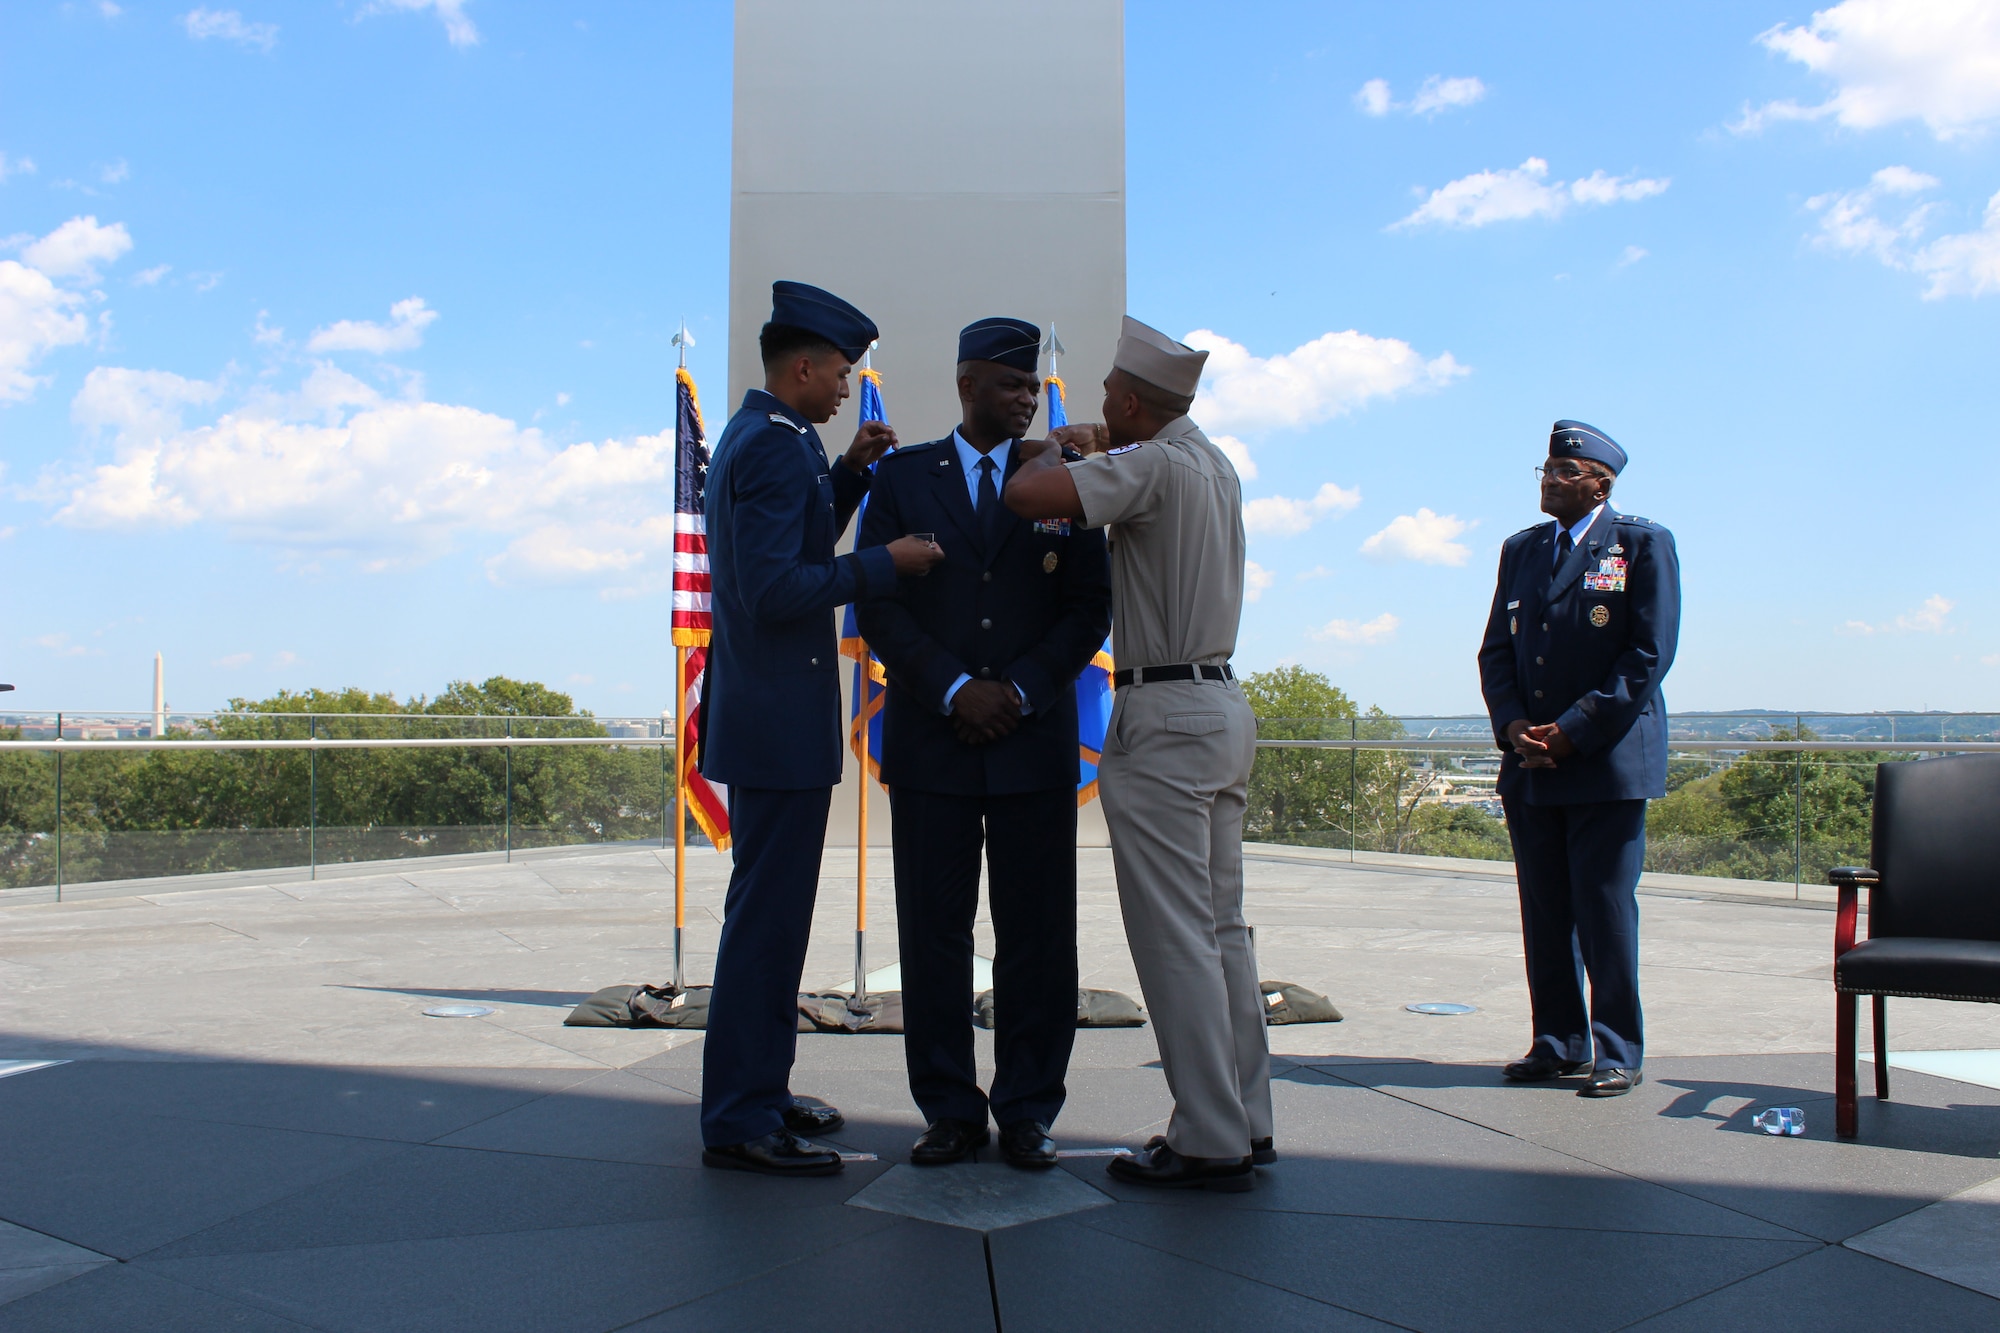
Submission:
[[[1936,138],[1958,138],[2000,118],[2000,6],[1992,0],[1844,0],[1810,24],[1778,24],[1756,38],[1834,82],[1816,106],[1744,108],[1730,128],[1832,116],[1850,130],[1922,120]]]

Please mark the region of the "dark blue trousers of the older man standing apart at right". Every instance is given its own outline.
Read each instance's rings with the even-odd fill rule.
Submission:
[[[1534,1049],[1598,1069],[1640,1069],[1638,873],[1644,801],[1502,801],[1520,883]],[[1590,1005],[1584,1007],[1584,979]]]

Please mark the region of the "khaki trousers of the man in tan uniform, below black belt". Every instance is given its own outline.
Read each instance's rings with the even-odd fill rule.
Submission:
[[[1234,681],[1118,691],[1098,765],[1126,943],[1184,1157],[1244,1157],[1270,1127],[1270,1045],[1244,925],[1256,719]]]

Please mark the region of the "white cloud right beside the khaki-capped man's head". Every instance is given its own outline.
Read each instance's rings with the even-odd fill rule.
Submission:
[[[1402,338],[1374,338],[1354,328],[1276,356],[1252,356],[1250,348],[1208,328],[1196,328],[1182,342],[1208,352],[1200,414],[1222,432],[1314,426],[1372,398],[1442,388],[1468,374],[1450,352],[1424,360]]]

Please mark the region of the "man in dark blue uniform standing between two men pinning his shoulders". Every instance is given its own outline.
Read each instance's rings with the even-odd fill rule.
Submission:
[[[888,669],[882,781],[896,833],[904,1059],[928,1129],[920,1167],[1000,1127],[1014,1167],[1054,1167],[1076,1041],[1076,677],[1112,620],[1104,534],[1000,502],[1034,422],[1042,330],[958,334],[964,420],[876,468],[858,548],[936,532],[942,564],[858,608]],[[1076,456],[1076,454],[1072,454]],[[874,592],[874,588],[870,588]],[[972,1059],[980,851],[994,921],[994,1081]]]

